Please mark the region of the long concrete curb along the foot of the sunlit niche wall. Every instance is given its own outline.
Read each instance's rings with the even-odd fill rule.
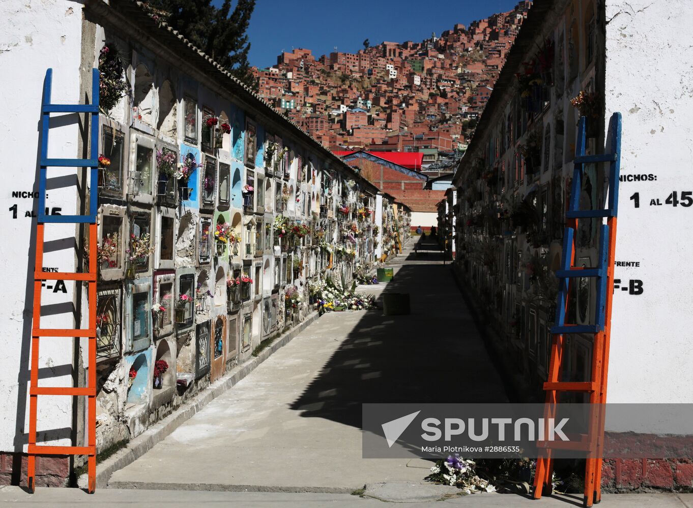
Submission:
[[[207,390],[200,392],[196,397],[193,397],[191,401],[188,401],[176,410],[174,410],[170,415],[156,424],[145,430],[139,436],[132,439],[128,446],[122,450],[117,451],[114,455],[108,457],[103,462],[100,462],[96,466],[96,487],[98,489],[105,489],[108,486],[108,480],[111,475],[123,469],[123,467],[128,464],[132,464],[135,460],[139,459],[142,455],[150,451],[151,448],[155,446],[158,442],[167,437],[170,433],[178,428],[188,419],[191,419],[208,403],[219,397],[222,393],[226,392],[233,385],[238,383],[241,379],[245,378],[248,374],[253,372],[258,365],[261,365],[263,361],[270,357],[275,351],[279,350],[280,347],[287,345],[295,336],[303,332],[308,325],[313,323],[318,318],[317,311],[313,311],[304,321],[299,323],[297,327],[290,329],[286,334],[279,336],[272,344],[267,346],[258,356],[253,356],[247,360],[242,365],[238,365],[233,370],[227,372],[223,377],[209,385]],[[78,479],[78,486],[82,488],[87,487],[87,474],[83,474]],[[137,487],[136,487],[137,488]],[[143,488],[143,487],[142,487]],[[251,488],[251,487],[247,487]],[[170,487],[169,487],[170,489]],[[202,489],[202,490],[219,490],[219,489]],[[297,491],[301,492],[301,491]],[[341,493],[342,491],[340,491]]]

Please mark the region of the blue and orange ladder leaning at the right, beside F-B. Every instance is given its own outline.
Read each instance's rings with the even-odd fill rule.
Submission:
[[[618,183],[621,152],[621,114],[614,113],[609,120],[608,154],[585,154],[586,118],[580,118],[575,147],[574,171],[570,190],[570,205],[565,212],[566,224],[563,235],[563,259],[561,269],[556,271],[559,279],[558,304],[556,305],[556,326],[550,354],[549,374],[544,383],[546,403],[544,421],[556,417],[559,392],[583,392],[590,398],[588,431],[577,442],[542,441],[538,448],[543,456],[538,457],[534,473],[534,498],[542,493],[551,493],[553,461],[551,449],[572,449],[586,452],[584,506],[591,507],[602,496],[602,448],[604,445],[604,403],[606,403],[606,382],[608,374],[609,341],[611,339],[611,302],[613,298],[613,268],[615,264],[616,218],[618,211]],[[579,210],[579,196],[584,164],[609,163],[609,192],[607,208],[602,210]],[[574,233],[579,219],[606,218],[599,231],[599,262],[597,268],[581,268],[575,264]],[[595,278],[597,280],[596,316],[594,325],[570,325],[565,323],[568,310],[568,296],[571,278]],[[593,334],[592,372],[589,381],[561,381],[566,341],[565,334]]]

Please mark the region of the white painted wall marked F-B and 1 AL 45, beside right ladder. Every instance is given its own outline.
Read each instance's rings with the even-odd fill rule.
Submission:
[[[623,115],[609,402],[693,402],[693,207],[665,204],[693,191],[693,3],[606,2],[606,118]],[[640,208],[630,199],[640,193]],[[650,206],[659,199],[661,206]]]

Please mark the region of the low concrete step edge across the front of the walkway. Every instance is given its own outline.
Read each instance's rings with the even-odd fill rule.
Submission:
[[[310,494],[351,494],[353,487],[272,487],[268,485],[227,485],[222,483],[113,482],[109,489],[154,491],[283,492]]]

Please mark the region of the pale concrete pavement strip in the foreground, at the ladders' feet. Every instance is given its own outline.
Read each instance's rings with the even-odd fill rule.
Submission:
[[[387,508],[376,499],[360,498],[349,494],[279,493],[279,492],[210,492],[210,491],[155,491],[132,489],[100,489],[92,496],[78,489],[37,489],[28,494],[19,487],[0,489],[0,506],[22,508],[98,507],[122,508],[130,506],[198,507],[213,506],[243,508]],[[568,496],[530,500],[514,494],[474,494],[445,501],[412,502],[405,507],[444,508],[447,506],[474,508],[574,508],[581,506],[577,498]],[[693,494],[611,494],[602,496],[599,508],[693,508]]]

